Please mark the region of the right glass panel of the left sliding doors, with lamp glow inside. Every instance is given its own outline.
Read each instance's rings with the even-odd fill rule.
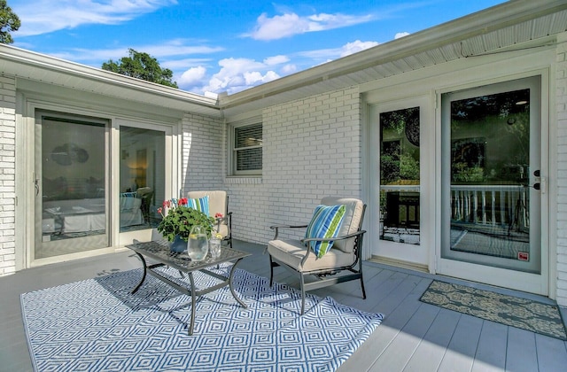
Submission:
[[[166,133],[120,126],[120,232],[156,228],[165,199]]]

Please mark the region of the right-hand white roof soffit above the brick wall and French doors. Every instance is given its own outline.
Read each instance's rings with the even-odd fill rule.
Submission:
[[[565,0],[513,0],[321,66],[220,96],[226,115],[363,84],[567,30]]]

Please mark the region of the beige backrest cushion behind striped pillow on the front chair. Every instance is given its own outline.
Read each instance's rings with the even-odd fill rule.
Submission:
[[[343,217],[343,223],[338,230],[338,236],[353,234],[358,230],[361,223],[362,213],[364,211],[364,203],[362,203],[360,199],[327,197],[322,198],[321,204],[345,205],[345,216]],[[354,240],[354,237],[346,240],[336,240],[333,247],[338,248],[343,252],[352,253],[354,251]]]

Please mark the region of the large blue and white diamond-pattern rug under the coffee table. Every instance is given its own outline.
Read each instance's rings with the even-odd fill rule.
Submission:
[[[212,271],[228,274],[225,265]],[[163,274],[189,286],[178,271]],[[332,298],[300,294],[237,269],[234,288],[198,298],[188,335],[190,297],[142,269],[21,295],[27,344],[36,371],[332,371],[362,345],[382,314]],[[196,287],[217,279],[194,274]]]

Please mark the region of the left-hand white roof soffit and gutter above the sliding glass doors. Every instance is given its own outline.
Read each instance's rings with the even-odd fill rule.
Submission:
[[[0,72],[180,112],[220,117],[215,98],[0,44]]]

